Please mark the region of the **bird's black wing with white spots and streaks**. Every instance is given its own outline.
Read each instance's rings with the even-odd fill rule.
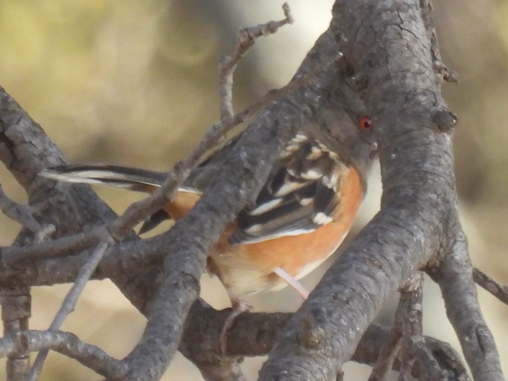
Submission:
[[[256,205],[238,215],[229,242],[255,243],[310,233],[330,223],[344,171],[345,165],[326,146],[297,135],[281,153]]]

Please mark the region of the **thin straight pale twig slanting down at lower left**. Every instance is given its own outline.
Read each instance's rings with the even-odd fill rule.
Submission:
[[[97,246],[96,250],[90,256],[90,259],[81,268],[81,270],[78,274],[78,277],[73,284],[73,287],[71,288],[71,290],[67,294],[65,300],[63,301],[62,306],[60,307],[60,310],[56,314],[55,319],[49,326],[48,331],[51,332],[51,331],[57,330],[60,327],[60,325],[63,323],[63,320],[65,320],[67,315],[69,315],[69,313],[71,313],[74,310],[74,307],[76,306],[76,302],[77,302],[79,296],[81,295],[81,292],[83,291],[86,283],[90,279],[91,274],[96,269],[97,265],[103,258],[105,252],[113,244],[114,244],[114,241],[113,241],[113,239],[111,239],[111,237],[104,237],[102,240],[102,243]],[[34,361],[34,365],[31,367],[30,373],[28,374],[28,376],[26,378],[27,381],[36,381],[47,356],[48,356],[47,349],[39,352],[36,360]]]

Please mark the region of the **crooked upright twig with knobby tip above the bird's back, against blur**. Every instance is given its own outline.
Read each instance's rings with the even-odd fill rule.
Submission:
[[[243,28],[238,32],[235,50],[230,55],[220,58],[219,62],[219,97],[220,97],[220,120],[227,121],[233,118],[233,73],[238,62],[245,56],[247,51],[254,45],[256,40],[262,36],[274,34],[278,28],[293,23],[291,10],[288,3],[282,5],[284,19],[280,21],[269,21],[267,23]]]

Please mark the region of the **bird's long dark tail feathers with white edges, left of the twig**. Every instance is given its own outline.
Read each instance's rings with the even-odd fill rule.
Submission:
[[[166,173],[109,165],[61,165],[42,171],[41,176],[73,183],[100,184],[115,188],[153,192]]]

